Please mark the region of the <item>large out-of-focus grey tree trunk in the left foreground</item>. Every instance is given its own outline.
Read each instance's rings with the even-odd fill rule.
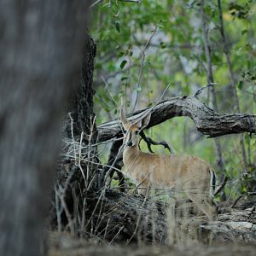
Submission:
[[[89,1],[87,1],[89,2]],[[40,255],[87,2],[0,1],[0,255]]]

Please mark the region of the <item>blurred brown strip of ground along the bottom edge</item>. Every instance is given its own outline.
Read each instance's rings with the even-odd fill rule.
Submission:
[[[218,255],[218,256],[255,256],[256,244],[225,243],[203,245],[197,241],[189,241],[172,247],[159,246],[120,246],[98,245],[75,239],[67,234],[49,234],[49,256],[172,256],[172,255]]]

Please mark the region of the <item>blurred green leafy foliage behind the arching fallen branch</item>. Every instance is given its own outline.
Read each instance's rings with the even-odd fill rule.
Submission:
[[[250,0],[223,0],[221,3],[241,113],[255,113],[256,3]],[[218,29],[218,2],[205,1],[205,5],[214,79],[218,83],[218,108],[222,113],[233,113],[229,67]],[[97,44],[95,107],[98,123],[118,117],[121,98],[129,113],[137,93],[136,109],[140,109],[157,102],[166,84],[171,84],[166,96],[192,95],[207,84],[198,1],[143,0],[141,4],[102,1],[96,6],[93,16],[97,21],[91,34]],[[157,32],[153,32],[155,27]],[[200,97],[212,107],[207,90]],[[190,119],[166,121],[149,133],[154,140],[172,144],[177,153],[195,154],[215,165],[213,140],[201,136]],[[255,139],[245,138],[247,168],[255,173]],[[227,186],[226,192],[231,191],[233,196],[237,191],[246,192],[251,182],[243,180],[239,137],[222,137],[220,142],[226,174],[233,182],[242,184],[235,186],[236,193],[231,191],[231,186]],[[142,148],[147,150],[143,144]],[[159,147],[154,150],[158,151]],[[253,175],[250,178],[253,179]]]

